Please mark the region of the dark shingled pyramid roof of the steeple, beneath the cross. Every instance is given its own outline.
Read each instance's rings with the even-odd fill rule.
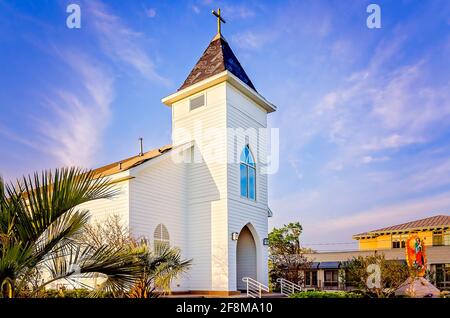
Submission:
[[[217,34],[209,43],[205,52],[203,52],[203,55],[198,60],[197,64],[195,64],[191,73],[189,73],[189,76],[178,91],[226,70],[233,73],[233,75],[238,77],[256,92],[255,86],[247,73],[245,73],[228,42],[220,34]]]

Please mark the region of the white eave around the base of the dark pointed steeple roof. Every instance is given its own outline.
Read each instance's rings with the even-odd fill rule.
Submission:
[[[211,76],[203,81],[186,87],[176,93],[173,93],[167,97],[164,97],[161,102],[169,107],[174,103],[196,94],[200,91],[208,89],[212,86],[218,85],[223,82],[228,82],[237,89],[239,89],[244,95],[253,100],[256,104],[264,108],[268,113],[276,111],[277,107],[267,101],[261,94],[257,93],[250,86],[241,81],[237,76],[229,71],[223,71],[217,75]]]

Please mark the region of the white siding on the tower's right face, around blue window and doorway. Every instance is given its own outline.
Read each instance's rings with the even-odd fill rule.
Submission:
[[[230,128],[239,128],[244,132],[251,128],[266,128],[267,113],[232,85],[227,84],[227,125]],[[254,239],[257,248],[257,279],[267,284],[267,247],[263,239],[267,237],[267,175],[261,173],[261,167],[267,162],[266,134],[259,133],[257,140],[249,138],[249,146],[256,157],[256,201],[240,196],[240,170],[239,162],[235,160],[228,165],[228,227],[229,232],[240,232],[246,224],[254,228]],[[237,141],[237,142],[236,142]],[[233,149],[240,145],[245,146],[245,135],[228,136],[228,150],[235,151],[239,158],[241,149]],[[236,242],[230,242],[229,263],[236,264]],[[236,267],[230,267],[229,289],[236,289]]]

